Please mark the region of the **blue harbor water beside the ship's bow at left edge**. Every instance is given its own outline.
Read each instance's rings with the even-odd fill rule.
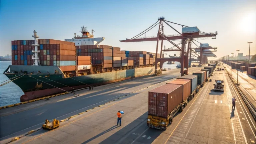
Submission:
[[[8,80],[7,76],[3,72],[11,65],[11,61],[0,61],[0,84],[3,84]],[[2,83],[3,82],[3,83]],[[8,81],[6,81],[8,82]],[[20,96],[23,95],[23,91],[13,82],[5,84],[0,87],[0,106],[6,106],[20,102]]]

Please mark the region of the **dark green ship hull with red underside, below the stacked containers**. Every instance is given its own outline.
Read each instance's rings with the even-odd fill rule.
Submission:
[[[24,95],[20,97],[20,101],[24,102],[65,91],[145,76],[153,72],[154,67],[145,67],[70,78],[63,78],[62,74],[27,74],[13,82],[24,92]],[[5,73],[5,75],[11,79],[19,74]]]

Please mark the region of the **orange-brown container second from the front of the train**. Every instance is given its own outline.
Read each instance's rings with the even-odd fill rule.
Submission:
[[[191,94],[191,81],[188,79],[176,79],[166,84],[178,84],[182,85],[183,89],[183,101]]]

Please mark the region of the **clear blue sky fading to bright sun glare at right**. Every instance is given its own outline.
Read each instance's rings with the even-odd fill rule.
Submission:
[[[78,34],[81,26],[94,29],[95,37],[105,37],[101,44],[121,50],[156,52],[156,41],[123,43],[119,40],[134,37],[161,16],[171,22],[197,26],[203,32],[217,31],[216,39],[197,41],[217,47],[214,53],[218,58],[236,54],[238,49],[244,56],[248,55],[247,42],[253,42],[250,55],[256,54],[255,0],[0,0],[0,56],[11,54],[12,40],[33,40],[33,30],[39,39],[64,40]],[[181,26],[170,25],[181,32]],[[156,36],[157,30],[153,28],[146,37]],[[178,34],[166,24],[164,33]],[[168,41],[164,45],[173,46]],[[168,52],[174,53],[179,55],[179,52]]]

